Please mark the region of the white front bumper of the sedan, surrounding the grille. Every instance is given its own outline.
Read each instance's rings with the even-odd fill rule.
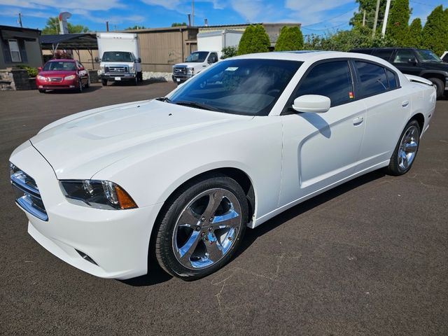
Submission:
[[[162,204],[130,210],[71,204],[55,172],[29,141],[14,151],[10,161],[33,177],[41,193],[48,221],[20,207],[27,215],[29,234],[39,244],[70,265],[102,278],[129,279],[148,272],[149,239]]]

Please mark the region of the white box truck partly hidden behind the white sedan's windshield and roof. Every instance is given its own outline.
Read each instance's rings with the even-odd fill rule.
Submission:
[[[237,46],[242,34],[243,31],[228,29],[197,34],[198,51],[192,52],[184,63],[174,64],[173,81],[178,84],[183,83],[206,69],[207,66],[218,62],[223,48]]]

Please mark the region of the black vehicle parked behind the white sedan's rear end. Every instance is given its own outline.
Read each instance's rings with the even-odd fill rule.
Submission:
[[[416,48],[356,48],[351,52],[374,55],[391,62],[402,73],[430,80],[437,88],[437,98],[448,93],[448,63],[434,52]]]

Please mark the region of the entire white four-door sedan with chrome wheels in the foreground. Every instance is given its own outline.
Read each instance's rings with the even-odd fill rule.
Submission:
[[[428,80],[377,57],[267,52],[210,66],[167,97],[46,126],[10,157],[29,234],[85,272],[149,260],[198,279],[246,226],[385,168],[405,174],[435,110]]]

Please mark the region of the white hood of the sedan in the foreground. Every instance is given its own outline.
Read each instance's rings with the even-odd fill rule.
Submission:
[[[90,179],[136,148],[150,155],[166,150],[168,141],[185,144],[202,129],[251,118],[151,100],[77,113],[48,125],[30,141],[58,179]]]

